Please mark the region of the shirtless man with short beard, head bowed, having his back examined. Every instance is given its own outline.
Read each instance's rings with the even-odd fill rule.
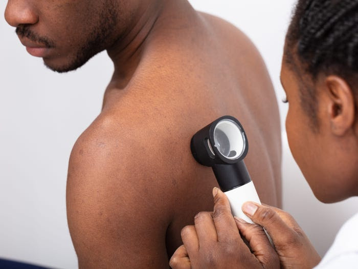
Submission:
[[[166,268],[181,229],[212,209],[217,185],[190,139],[237,117],[262,202],[280,206],[274,90],[250,40],[186,0],[9,0],[7,22],[57,72],[107,50],[115,71],[103,109],[78,138],[67,207],[80,268]]]

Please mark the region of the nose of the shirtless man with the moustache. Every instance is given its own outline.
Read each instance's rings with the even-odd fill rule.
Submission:
[[[13,27],[36,24],[38,15],[33,1],[9,0],[5,10],[5,19]]]

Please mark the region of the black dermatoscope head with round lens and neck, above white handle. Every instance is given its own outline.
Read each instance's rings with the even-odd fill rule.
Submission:
[[[213,121],[193,136],[190,148],[197,162],[212,167],[223,192],[251,181],[243,162],[248,138],[236,118],[223,116]]]

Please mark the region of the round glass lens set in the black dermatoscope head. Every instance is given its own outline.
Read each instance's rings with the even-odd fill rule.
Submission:
[[[220,120],[214,129],[214,147],[222,156],[235,160],[245,150],[245,137],[241,128],[231,119]]]

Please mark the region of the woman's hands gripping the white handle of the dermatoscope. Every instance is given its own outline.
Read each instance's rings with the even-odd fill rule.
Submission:
[[[242,210],[255,223],[233,218],[229,200],[214,189],[214,212],[195,217],[182,230],[184,245],[170,260],[173,269],[312,268],[321,258],[289,214],[267,205],[245,203]],[[271,236],[276,251],[262,229]],[[249,242],[252,252],[240,234]]]

